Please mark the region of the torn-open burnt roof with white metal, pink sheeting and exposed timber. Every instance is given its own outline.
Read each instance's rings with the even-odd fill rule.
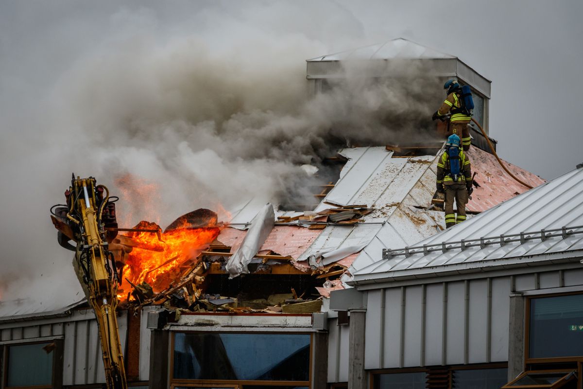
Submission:
[[[440,149],[431,155],[408,156],[388,146],[350,148],[340,150],[340,155],[347,158],[340,178],[314,212],[271,213],[264,201],[248,202],[231,214],[230,224],[210,247],[192,258],[185,276],[157,296],[149,294],[151,288],[139,290],[141,301],[175,306],[181,300],[193,307],[195,300],[204,300],[206,310],[229,307],[235,312],[265,306],[284,313],[319,310],[317,296],[327,297],[331,290],[346,287],[353,274],[381,260],[383,248],[415,244],[443,229],[443,213],[431,206]],[[470,211],[483,211],[526,191],[499,169],[494,156],[477,148],[469,155],[480,185],[468,205]],[[528,171],[507,166],[533,186],[543,183]],[[229,274],[227,262],[240,250],[258,213],[263,227],[245,243],[244,260]],[[470,220],[465,223],[469,226]],[[249,274],[237,276],[244,272]],[[253,293],[240,294],[238,307],[237,298],[223,297],[223,291],[239,293],[245,288]],[[295,293],[294,288],[301,290]],[[286,295],[283,289],[293,293]],[[265,296],[259,298],[261,293]],[[3,302],[0,320],[61,313],[75,306],[78,299],[73,300],[55,300],[54,307]]]

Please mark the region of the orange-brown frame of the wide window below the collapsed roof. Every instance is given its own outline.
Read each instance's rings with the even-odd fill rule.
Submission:
[[[282,335],[310,335],[310,362],[308,370],[308,381],[251,381],[251,380],[195,380],[195,379],[175,379],[174,378],[174,339],[176,334],[282,334]],[[308,331],[172,331],[170,337],[170,387],[175,386],[206,386],[225,387],[240,389],[245,385],[250,386],[312,386],[312,365],[314,362],[314,334]],[[12,388],[10,388],[12,389]],[[36,388],[35,388],[36,389]]]

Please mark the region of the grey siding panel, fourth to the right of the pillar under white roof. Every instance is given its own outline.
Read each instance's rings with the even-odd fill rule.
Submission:
[[[424,365],[441,365],[443,352],[443,283],[426,286],[425,361]]]

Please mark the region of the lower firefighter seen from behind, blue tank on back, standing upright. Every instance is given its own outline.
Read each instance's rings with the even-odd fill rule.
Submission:
[[[445,193],[445,228],[466,219],[466,204],[472,194],[470,160],[459,147],[459,136],[449,135],[445,151],[437,162],[437,191]],[[458,217],[454,213],[454,199]]]

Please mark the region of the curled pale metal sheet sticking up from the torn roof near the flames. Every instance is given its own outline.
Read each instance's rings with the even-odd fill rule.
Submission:
[[[226,269],[229,272],[229,278],[249,272],[247,265],[269,236],[275,224],[274,220],[273,206],[269,203],[251,220],[251,226],[245,234],[241,246],[227,261]]]

